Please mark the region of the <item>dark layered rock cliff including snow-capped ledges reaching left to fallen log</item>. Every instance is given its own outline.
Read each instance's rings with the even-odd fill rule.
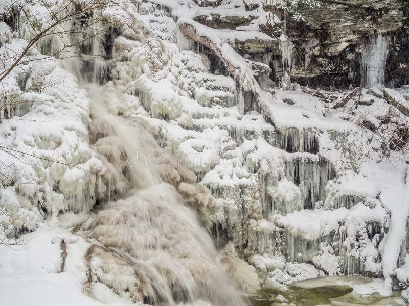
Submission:
[[[217,3],[213,2],[213,5],[217,6]],[[245,28],[254,23],[261,10],[253,1],[246,3],[245,7],[248,14],[211,13],[209,17],[205,11],[194,20],[215,29]],[[275,68],[271,74],[275,82],[287,70],[290,77],[301,85],[367,86],[366,62],[371,61],[372,55],[365,57],[362,53],[366,48],[378,50],[382,47],[376,45],[378,35],[382,35],[384,40],[382,61],[388,64],[382,83],[399,87],[409,81],[409,4],[404,0],[386,3],[380,0],[323,0],[320,7],[301,7],[300,13],[305,20],[299,21],[290,20],[283,11],[268,5],[262,9],[266,15],[274,13],[279,19],[286,20],[284,32],[293,47],[289,58],[285,59],[287,65],[280,65],[284,62],[283,57],[288,56],[288,53],[283,53],[280,41],[271,45],[261,39],[236,39],[234,44],[242,56],[247,55]],[[278,23],[259,25],[261,31],[271,36],[280,27]]]

